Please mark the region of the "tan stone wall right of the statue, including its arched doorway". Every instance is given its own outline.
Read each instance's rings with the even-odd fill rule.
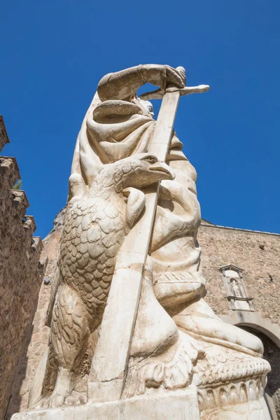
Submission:
[[[280,420],[280,235],[202,224],[202,270],[207,278],[205,300],[224,321],[253,332],[262,340],[272,372],[266,393],[273,419]],[[221,267],[243,270],[243,282],[254,311],[231,310]],[[273,407],[274,406],[274,407]]]

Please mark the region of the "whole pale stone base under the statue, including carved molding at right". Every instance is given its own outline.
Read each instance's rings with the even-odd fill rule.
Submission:
[[[155,391],[127,400],[21,412],[12,420],[270,420],[262,396],[264,382],[265,377],[258,377],[215,387]]]

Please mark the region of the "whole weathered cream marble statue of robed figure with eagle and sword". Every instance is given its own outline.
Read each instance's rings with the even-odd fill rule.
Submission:
[[[145,83],[159,89],[139,98]],[[15,419],[74,419],[78,406],[85,418],[269,419],[262,343],[203,299],[197,174],[173,125],[179,97],[208,89],[155,64],[100,80],[73,156],[48,351]],[[162,99],[158,121],[148,99]]]

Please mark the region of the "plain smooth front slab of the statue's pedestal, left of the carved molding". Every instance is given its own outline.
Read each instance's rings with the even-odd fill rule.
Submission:
[[[16,413],[12,420],[199,420],[197,388],[145,395],[127,400],[36,409]]]

